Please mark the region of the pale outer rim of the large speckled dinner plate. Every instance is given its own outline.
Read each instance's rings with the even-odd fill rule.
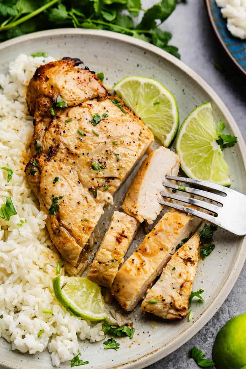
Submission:
[[[205,1],[208,1],[208,0],[205,0]],[[139,48],[145,49],[148,52],[152,52],[153,54],[156,54],[159,57],[169,61],[175,67],[185,72],[192,80],[194,80],[196,83],[198,83],[198,85],[200,85],[200,87],[205,91],[205,93],[208,94],[212,102],[216,104],[216,106],[219,108],[219,110],[221,110],[222,114],[225,116],[232,132],[238,137],[238,148],[240,151],[240,155],[242,157],[244,171],[246,173],[246,145],[243,140],[242,134],[239,131],[238,125],[233,119],[228,108],[225,106],[225,104],[220,99],[218,94],[216,94],[216,92],[208,85],[208,83],[205,82],[205,80],[202,79],[202,77],[200,77],[196,72],[194,72],[193,69],[188,67],[184,62],[175,58],[173,55],[170,55],[166,51],[158,48],[157,46],[154,46],[152,44],[149,44],[148,42],[142,41],[140,39],[137,39],[137,38],[134,38],[128,35],[119,34],[119,33],[111,32],[111,31],[80,29],[80,28],[58,28],[58,29],[52,29],[52,30],[33,32],[31,34],[19,36],[11,40],[4,41],[0,44],[0,51],[4,51],[5,48],[9,46],[13,46],[15,44],[19,44],[21,42],[31,41],[33,39],[38,39],[42,37],[53,37],[53,36],[64,35],[64,34],[89,35],[89,36],[91,35],[91,36],[97,36],[97,37],[102,37],[102,38],[117,39],[120,42],[125,42],[130,45],[138,46]],[[185,344],[198,331],[200,331],[201,328],[204,327],[204,325],[208,323],[208,321],[214,316],[216,311],[218,311],[218,309],[224,303],[226,297],[229,295],[229,293],[232,290],[232,287],[234,286],[236,280],[238,279],[238,276],[246,260],[245,245],[246,245],[246,236],[242,237],[242,242],[240,245],[238,256],[234,260],[234,263],[231,268],[231,272],[229,273],[223,287],[221,288],[219,293],[216,295],[214,300],[211,302],[211,304],[204,311],[204,313],[201,316],[199,316],[197,320],[195,320],[194,323],[190,325],[189,328],[181,332],[177,337],[173,338],[170,342],[165,344],[163,347],[156,349],[155,351],[150,352],[149,354],[146,354],[139,359],[132,360],[131,362],[128,362],[126,364],[120,364],[117,366],[108,367],[108,369],[120,369],[120,368],[142,369],[142,368],[145,368],[146,366],[153,364],[156,361],[171,354],[173,351],[178,349],[181,345]],[[0,361],[0,364],[4,365],[5,368],[18,369],[16,366],[9,366],[9,365],[6,366],[6,364],[1,361]]]

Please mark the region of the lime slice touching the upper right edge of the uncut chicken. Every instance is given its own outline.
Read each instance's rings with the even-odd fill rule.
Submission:
[[[156,80],[139,76],[121,79],[114,90],[162,144],[170,146],[179,128],[179,111],[173,94]]]

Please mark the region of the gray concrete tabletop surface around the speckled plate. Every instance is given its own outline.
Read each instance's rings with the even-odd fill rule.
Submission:
[[[156,1],[153,1],[153,3]],[[152,1],[143,1],[143,6]],[[216,39],[209,24],[204,2],[187,0],[180,3],[171,17],[162,25],[173,34],[171,44],[178,46],[181,60],[197,72],[221,97],[246,139],[246,78],[233,67],[228,56]],[[214,68],[219,62],[226,68],[222,74]],[[148,369],[195,369],[190,358],[195,345],[211,359],[214,339],[219,329],[233,316],[246,311],[246,264],[225,303],[190,341],[166,358],[148,366]],[[225,368],[226,369],[226,368]]]

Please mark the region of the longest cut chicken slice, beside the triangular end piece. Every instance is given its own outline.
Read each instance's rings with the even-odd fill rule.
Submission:
[[[125,310],[136,307],[170,260],[177,244],[200,223],[201,219],[173,209],[145,236],[139,248],[119,269],[112,285],[114,297]]]

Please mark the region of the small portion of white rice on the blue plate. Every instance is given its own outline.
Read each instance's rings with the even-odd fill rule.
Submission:
[[[227,18],[227,28],[235,37],[246,39],[246,0],[216,0]]]

